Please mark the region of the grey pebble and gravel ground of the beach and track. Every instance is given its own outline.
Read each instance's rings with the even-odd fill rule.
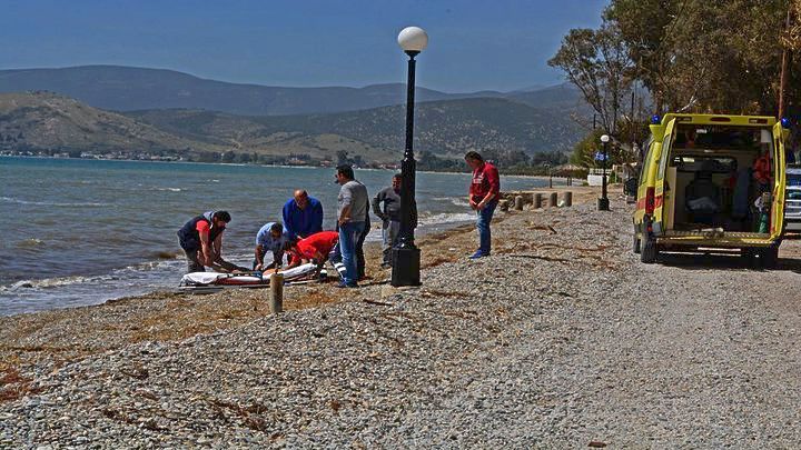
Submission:
[[[188,339],[102,334],[115,343],[29,358],[80,332],[17,329],[27,350],[4,341],[20,363],[0,379],[0,446],[797,447],[801,246],[785,242],[773,271],[643,266],[631,211],[614,207],[510,213],[490,258],[438,258],[472,233],[424,247],[419,289],[373,286]]]

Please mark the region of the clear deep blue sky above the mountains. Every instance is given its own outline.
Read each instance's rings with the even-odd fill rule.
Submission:
[[[428,48],[417,84],[511,91],[564,81],[547,66],[607,0],[3,0],[0,69],[118,64],[266,86],[405,82],[397,33]]]

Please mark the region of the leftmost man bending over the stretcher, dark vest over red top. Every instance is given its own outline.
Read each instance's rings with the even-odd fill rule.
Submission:
[[[227,271],[243,269],[222,259],[222,232],[228,222],[228,211],[208,211],[178,230],[178,241],[186,253],[189,273],[202,272],[205,267]]]

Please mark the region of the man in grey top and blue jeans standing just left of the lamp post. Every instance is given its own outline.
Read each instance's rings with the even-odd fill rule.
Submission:
[[[337,198],[337,222],[339,224],[339,250],[343,264],[345,264],[345,277],[339,287],[357,288],[356,246],[365,230],[369,198],[367,188],[355,180],[350,166],[338,166],[336,180],[342,186]]]

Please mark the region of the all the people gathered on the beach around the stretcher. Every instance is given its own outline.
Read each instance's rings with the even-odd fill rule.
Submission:
[[[497,169],[481,154],[468,152],[465,161],[473,169],[469,204],[476,211],[479,247],[469,258],[491,253],[490,222],[498,203]],[[372,201],[367,188],[356,180],[350,166],[336,168],[339,184],[336,231],[323,230],[323,204],[305,190],[295,191],[283,208],[283,222],[268,222],[256,234],[253,269],[222,259],[222,232],[230,222],[227,211],[209,211],[192,218],[178,230],[178,240],[186,253],[189,272],[209,267],[218,271],[269,271],[284,266],[294,268],[305,262],[323,266],[330,261],[339,272],[340,288],[356,288],[365,278],[364,242],[370,230],[369,211],[382,220],[383,268],[392,267],[392,248],[400,232],[402,176],[393,176],[392,184],[379,191]],[[412,223],[416,227],[416,206],[412,206]],[[267,252],[273,261],[266,263]]]

